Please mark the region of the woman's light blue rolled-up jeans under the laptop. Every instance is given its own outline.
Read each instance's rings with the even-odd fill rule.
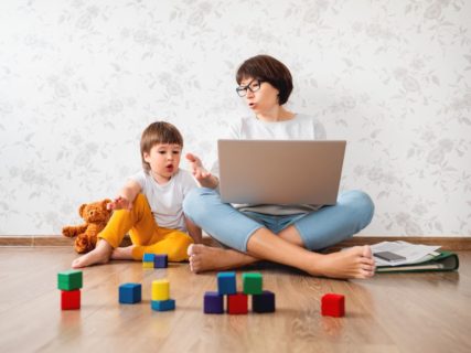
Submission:
[[[310,250],[323,249],[340,243],[366,227],[373,218],[374,204],[362,191],[339,195],[333,206],[295,215],[267,215],[240,212],[221,201],[216,190],[193,189],[183,201],[183,212],[220,243],[246,253],[247,242],[259,228],[278,234],[293,225]]]

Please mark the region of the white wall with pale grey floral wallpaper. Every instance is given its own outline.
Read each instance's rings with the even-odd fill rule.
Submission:
[[[154,119],[211,161],[248,114],[234,73],[268,53],[289,108],[346,139],[364,235],[471,235],[471,2],[0,1],[0,234],[60,234],[140,168]]]

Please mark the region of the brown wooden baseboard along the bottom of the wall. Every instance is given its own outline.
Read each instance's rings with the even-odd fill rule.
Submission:
[[[208,244],[211,240],[207,239]],[[454,236],[354,236],[346,239],[331,249],[340,249],[355,245],[371,245],[381,242],[405,240],[413,244],[440,245],[443,250],[452,252],[470,252],[471,236],[454,237]],[[206,242],[205,242],[206,243]],[[129,238],[125,238],[121,245],[129,245]],[[0,246],[23,246],[23,247],[41,247],[41,246],[58,246],[73,247],[74,239],[61,236],[0,236]]]

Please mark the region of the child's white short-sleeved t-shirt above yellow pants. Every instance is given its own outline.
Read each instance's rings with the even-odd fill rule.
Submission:
[[[183,216],[183,199],[193,188],[197,186],[189,171],[179,169],[163,185],[144,171],[140,171],[129,179],[141,186],[141,193],[146,195],[159,227],[188,231]]]

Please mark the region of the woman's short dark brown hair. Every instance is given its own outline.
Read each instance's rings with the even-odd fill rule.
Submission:
[[[278,104],[288,101],[292,92],[292,77],[288,67],[280,61],[269,55],[257,55],[247,58],[237,69],[236,81],[240,85],[244,78],[253,77],[268,82],[278,89]]]

